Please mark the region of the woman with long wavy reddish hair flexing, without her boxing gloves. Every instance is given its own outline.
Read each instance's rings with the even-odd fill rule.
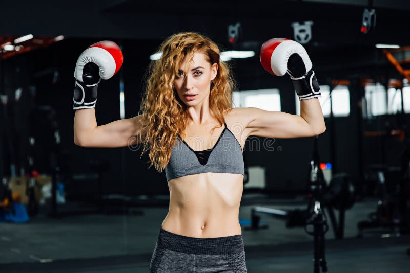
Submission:
[[[141,115],[97,126],[93,108],[74,105],[81,109],[75,113],[74,142],[87,147],[144,143],[150,166],[165,170],[170,206],[151,272],[246,272],[238,219],[245,140],[320,134],[325,130],[320,104],[303,99],[301,116],[232,108],[234,81],[213,41],[178,33],[160,52],[149,70]]]

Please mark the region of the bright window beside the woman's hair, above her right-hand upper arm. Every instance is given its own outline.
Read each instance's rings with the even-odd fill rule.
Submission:
[[[268,111],[280,111],[279,89],[234,91],[232,107],[257,107]]]

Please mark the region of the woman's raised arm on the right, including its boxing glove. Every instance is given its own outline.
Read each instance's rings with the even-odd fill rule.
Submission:
[[[283,38],[265,42],[260,51],[265,70],[276,76],[289,74],[300,100],[300,116],[258,108],[243,108],[247,113],[250,135],[273,138],[298,138],[325,131],[319,83],[312,62],[301,44]]]

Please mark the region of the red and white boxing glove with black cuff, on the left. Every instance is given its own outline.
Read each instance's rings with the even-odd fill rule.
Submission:
[[[98,83],[114,76],[121,65],[122,52],[113,41],[100,41],[83,51],[75,65],[73,109],[94,108]]]

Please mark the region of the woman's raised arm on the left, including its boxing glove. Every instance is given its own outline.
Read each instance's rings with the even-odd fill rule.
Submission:
[[[91,45],[79,56],[75,71],[74,143],[83,147],[124,147],[139,142],[141,116],[98,126],[95,119],[97,88],[122,65],[122,52],[112,41]]]

